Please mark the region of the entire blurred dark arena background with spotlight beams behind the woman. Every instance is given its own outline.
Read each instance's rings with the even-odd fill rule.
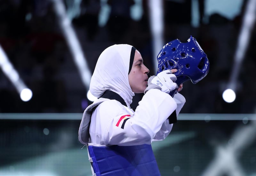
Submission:
[[[210,71],[152,144],[160,172],[255,176],[255,18],[256,0],[0,0],[0,175],[91,175],[77,133],[100,53],[131,44],[155,75],[164,44],[193,36]]]

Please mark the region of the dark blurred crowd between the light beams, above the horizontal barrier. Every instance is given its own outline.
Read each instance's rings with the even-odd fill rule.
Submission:
[[[81,113],[92,102],[86,98],[71,52],[62,34],[50,0],[0,0],[0,45],[26,85],[33,91],[28,102],[0,71],[0,113]],[[142,15],[131,16],[133,0],[81,0],[79,13],[72,15],[73,0],[63,0],[88,61],[90,71],[100,53],[112,44],[135,46],[145,65],[153,70],[153,41],[150,31],[148,1],[141,0]],[[256,30],[240,66],[236,100],[222,99],[233,66],[237,39],[242,25],[244,5],[233,20],[214,13],[203,21],[204,0],[199,2],[200,24],[191,26],[191,0],[163,1],[164,42],[176,38],[186,42],[192,35],[210,61],[209,74],[199,83],[185,82],[182,94],[187,103],[181,113],[254,113],[256,107]],[[106,23],[100,24],[102,7],[110,9]],[[181,15],[182,13],[182,15]],[[151,71],[152,74],[154,71]],[[132,107],[142,95],[135,96]],[[133,106],[134,105],[134,106]]]

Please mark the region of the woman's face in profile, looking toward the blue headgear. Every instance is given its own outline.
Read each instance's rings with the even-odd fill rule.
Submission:
[[[143,59],[138,50],[135,51],[131,71],[128,75],[129,84],[134,93],[143,93],[148,85],[148,68],[143,64]]]

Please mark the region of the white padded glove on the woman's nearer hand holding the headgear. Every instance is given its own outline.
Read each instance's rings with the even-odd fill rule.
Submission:
[[[178,88],[178,85],[174,83],[176,80],[177,77],[171,73],[171,70],[164,70],[148,79],[148,87],[144,93],[149,89],[160,89],[162,92],[170,93]]]

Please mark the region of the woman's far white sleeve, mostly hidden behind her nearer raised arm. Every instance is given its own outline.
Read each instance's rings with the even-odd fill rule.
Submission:
[[[184,104],[186,102],[186,99],[180,93],[175,94],[173,99],[177,103],[176,115],[178,116],[179,113],[180,113],[181,108],[184,106]],[[169,124],[169,120],[166,120],[163,123],[163,125],[162,125],[161,129],[159,130],[159,132],[156,133],[156,136],[154,137],[153,141],[165,139],[170,134],[170,132],[172,130],[172,125],[173,124]]]

